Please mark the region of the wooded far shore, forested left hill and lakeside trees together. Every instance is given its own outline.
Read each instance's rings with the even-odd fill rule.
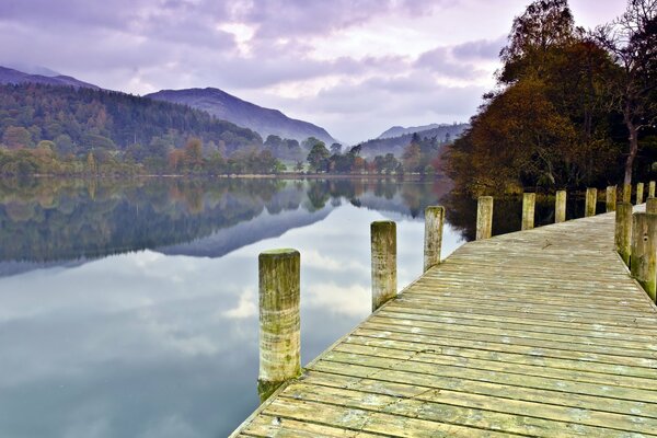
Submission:
[[[368,161],[362,146],[343,151],[313,137],[263,142],[185,105],[43,84],[0,87],[0,134],[1,175],[434,174],[446,140],[408,135],[392,140],[401,161],[391,152]]]

